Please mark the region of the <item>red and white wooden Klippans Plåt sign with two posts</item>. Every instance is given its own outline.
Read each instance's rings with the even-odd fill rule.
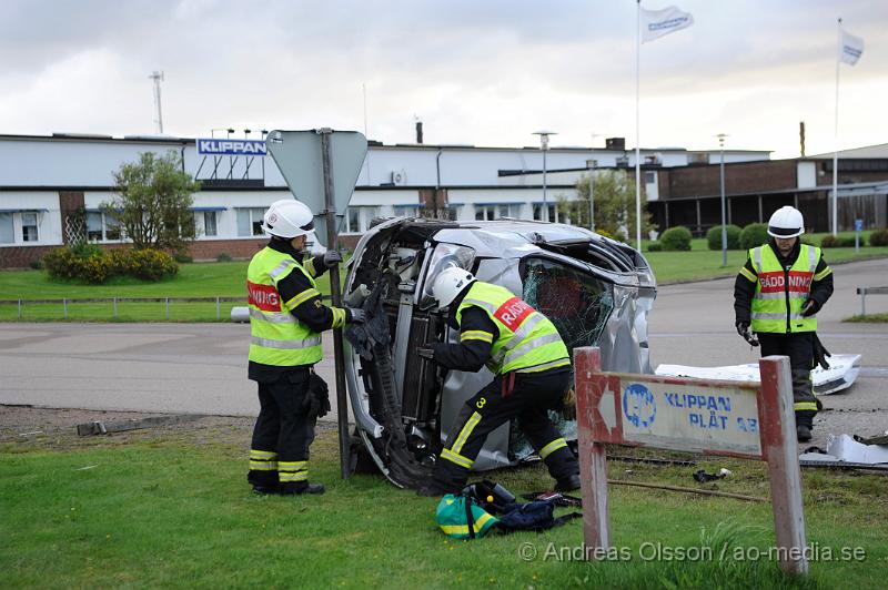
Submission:
[[[808,572],[789,358],[759,362],[761,383],[602,373],[598,348],[574,350],[586,555],[607,555],[605,444],[768,462],[777,557]]]

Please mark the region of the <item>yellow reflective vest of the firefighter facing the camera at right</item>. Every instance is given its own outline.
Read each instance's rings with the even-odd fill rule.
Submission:
[[[817,317],[801,317],[801,308],[811,292],[820,248],[800,244],[798,257],[786,271],[769,245],[749,251],[758,275],[753,297],[753,332],[789,334],[816,332]]]

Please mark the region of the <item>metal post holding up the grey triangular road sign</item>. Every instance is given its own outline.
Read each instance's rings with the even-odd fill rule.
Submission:
[[[333,130],[330,128],[319,129],[321,135],[321,157],[324,171],[324,204],[326,205],[326,247],[335,250],[339,244],[336,235],[336,205],[333,199],[333,170],[330,138]],[[330,269],[330,296],[333,305],[342,305],[340,293],[340,269],[334,266]],[[342,348],[342,329],[333,330],[333,355],[336,368],[336,414],[340,430],[340,472],[342,479],[349,479],[351,475],[351,459],[349,449],[349,404],[345,393],[345,355]]]

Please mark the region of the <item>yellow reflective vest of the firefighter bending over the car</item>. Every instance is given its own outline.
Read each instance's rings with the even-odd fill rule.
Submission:
[[[508,289],[476,281],[456,311],[457,323],[470,306],[484,309],[500,332],[487,362],[494,374],[532,373],[571,364],[555,325]]]

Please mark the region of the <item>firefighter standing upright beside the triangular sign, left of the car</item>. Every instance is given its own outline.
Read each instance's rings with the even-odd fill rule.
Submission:
[[[292,199],[275,201],[263,230],[271,240],[246,272],[249,378],[259,384],[261,407],[246,479],[258,494],[323,494],[323,485],[309,484],[309,447],[316,418],[330,401],[312,367],[323,355],[320,333],[363,322],[364,312],[321,302],[314,279],[342,256],[331,250],[303,265],[314,230],[307,206]]]

